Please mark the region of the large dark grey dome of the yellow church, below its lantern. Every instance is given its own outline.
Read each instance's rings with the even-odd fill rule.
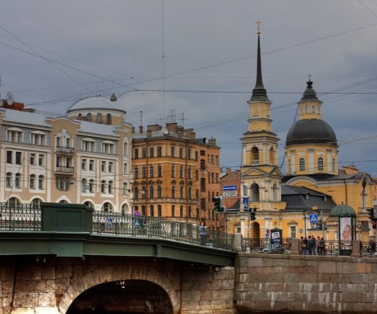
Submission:
[[[302,119],[293,124],[287,134],[285,144],[329,144],[337,145],[336,135],[323,120]]]

